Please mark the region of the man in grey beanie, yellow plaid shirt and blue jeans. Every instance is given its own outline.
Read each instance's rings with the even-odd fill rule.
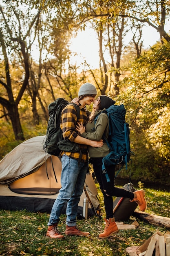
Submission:
[[[86,110],[86,105],[90,105],[97,94],[97,90],[91,83],[83,84],[78,92],[79,97],[79,123],[85,126],[88,121],[88,116],[90,112]],[[46,237],[62,239],[64,236],[60,234],[57,229],[57,224],[60,221],[60,215],[62,209],[67,203],[66,207],[66,235],[77,235],[77,236],[88,236],[88,232],[80,231],[76,226],[76,217],[78,203],[80,196],[83,192],[84,182],[86,178],[86,173],[88,170],[88,153],[87,145],[93,147],[102,147],[103,141],[92,141],[79,136],[75,130],[77,123],[76,108],[75,106],[68,104],[62,111],[61,117],[61,129],[63,132],[63,137],[66,140],[70,140],[78,144],[82,156],[79,162],[79,154],[73,152],[61,152],[62,156],[62,174],[61,174],[61,184],[62,188],[60,193],[53,204],[51,210],[48,230]]]

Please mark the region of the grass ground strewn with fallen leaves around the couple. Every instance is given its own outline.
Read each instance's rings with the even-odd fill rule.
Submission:
[[[170,218],[170,193],[153,189],[145,189],[145,192],[148,202],[146,211]],[[102,195],[101,207],[105,217]],[[65,231],[65,219],[66,216],[62,215],[58,225],[61,232]],[[94,216],[87,220],[77,220],[77,227],[82,231],[89,231],[90,236],[65,236],[63,240],[55,240],[45,237],[48,220],[47,213],[0,210],[0,255],[126,256],[126,247],[142,245],[157,230],[163,234],[169,230],[131,216],[128,222],[124,223],[131,224],[137,220],[137,229],[120,230],[116,235],[101,240],[98,234],[104,230],[104,221],[103,218]]]

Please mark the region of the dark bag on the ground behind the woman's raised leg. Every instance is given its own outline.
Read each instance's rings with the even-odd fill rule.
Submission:
[[[132,183],[127,183],[123,186],[123,189],[126,189],[130,192],[134,192],[136,191],[136,189],[134,189],[133,184]],[[132,213],[135,211],[135,209],[137,208],[138,204],[136,202],[130,202],[129,198],[115,198],[113,204],[113,214],[115,217],[116,221],[119,220],[128,220],[128,218],[130,218],[130,216],[132,215]]]

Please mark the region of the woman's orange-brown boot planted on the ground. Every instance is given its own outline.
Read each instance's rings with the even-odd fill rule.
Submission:
[[[107,219],[104,219],[106,221],[106,226],[104,228],[104,232],[99,234],[99,238],[107,238],[109,236],[111,236],[111,234],[116,234],[117,232],[119,232],[119,229],[116,225],[116,222],[115,222],[115,218],[109,218],[108,220]]]

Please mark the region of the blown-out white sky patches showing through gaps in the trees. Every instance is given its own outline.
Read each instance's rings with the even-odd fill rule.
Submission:
[[[130,40],[132,40],[132,36],[129,35],[127,36],[127,44]],[[148,48],[160,40],[159,33],[150,26],[145,27],[142,40],[144,40],[144,48]],[[77,53],[77,56],[73,58],[77,65],[80,65],[85,58],[91,68],[99,67],[99,43],[92,29],[88,28],[86,31],[79,32],[77,37],[73,38],[70,49]]]

